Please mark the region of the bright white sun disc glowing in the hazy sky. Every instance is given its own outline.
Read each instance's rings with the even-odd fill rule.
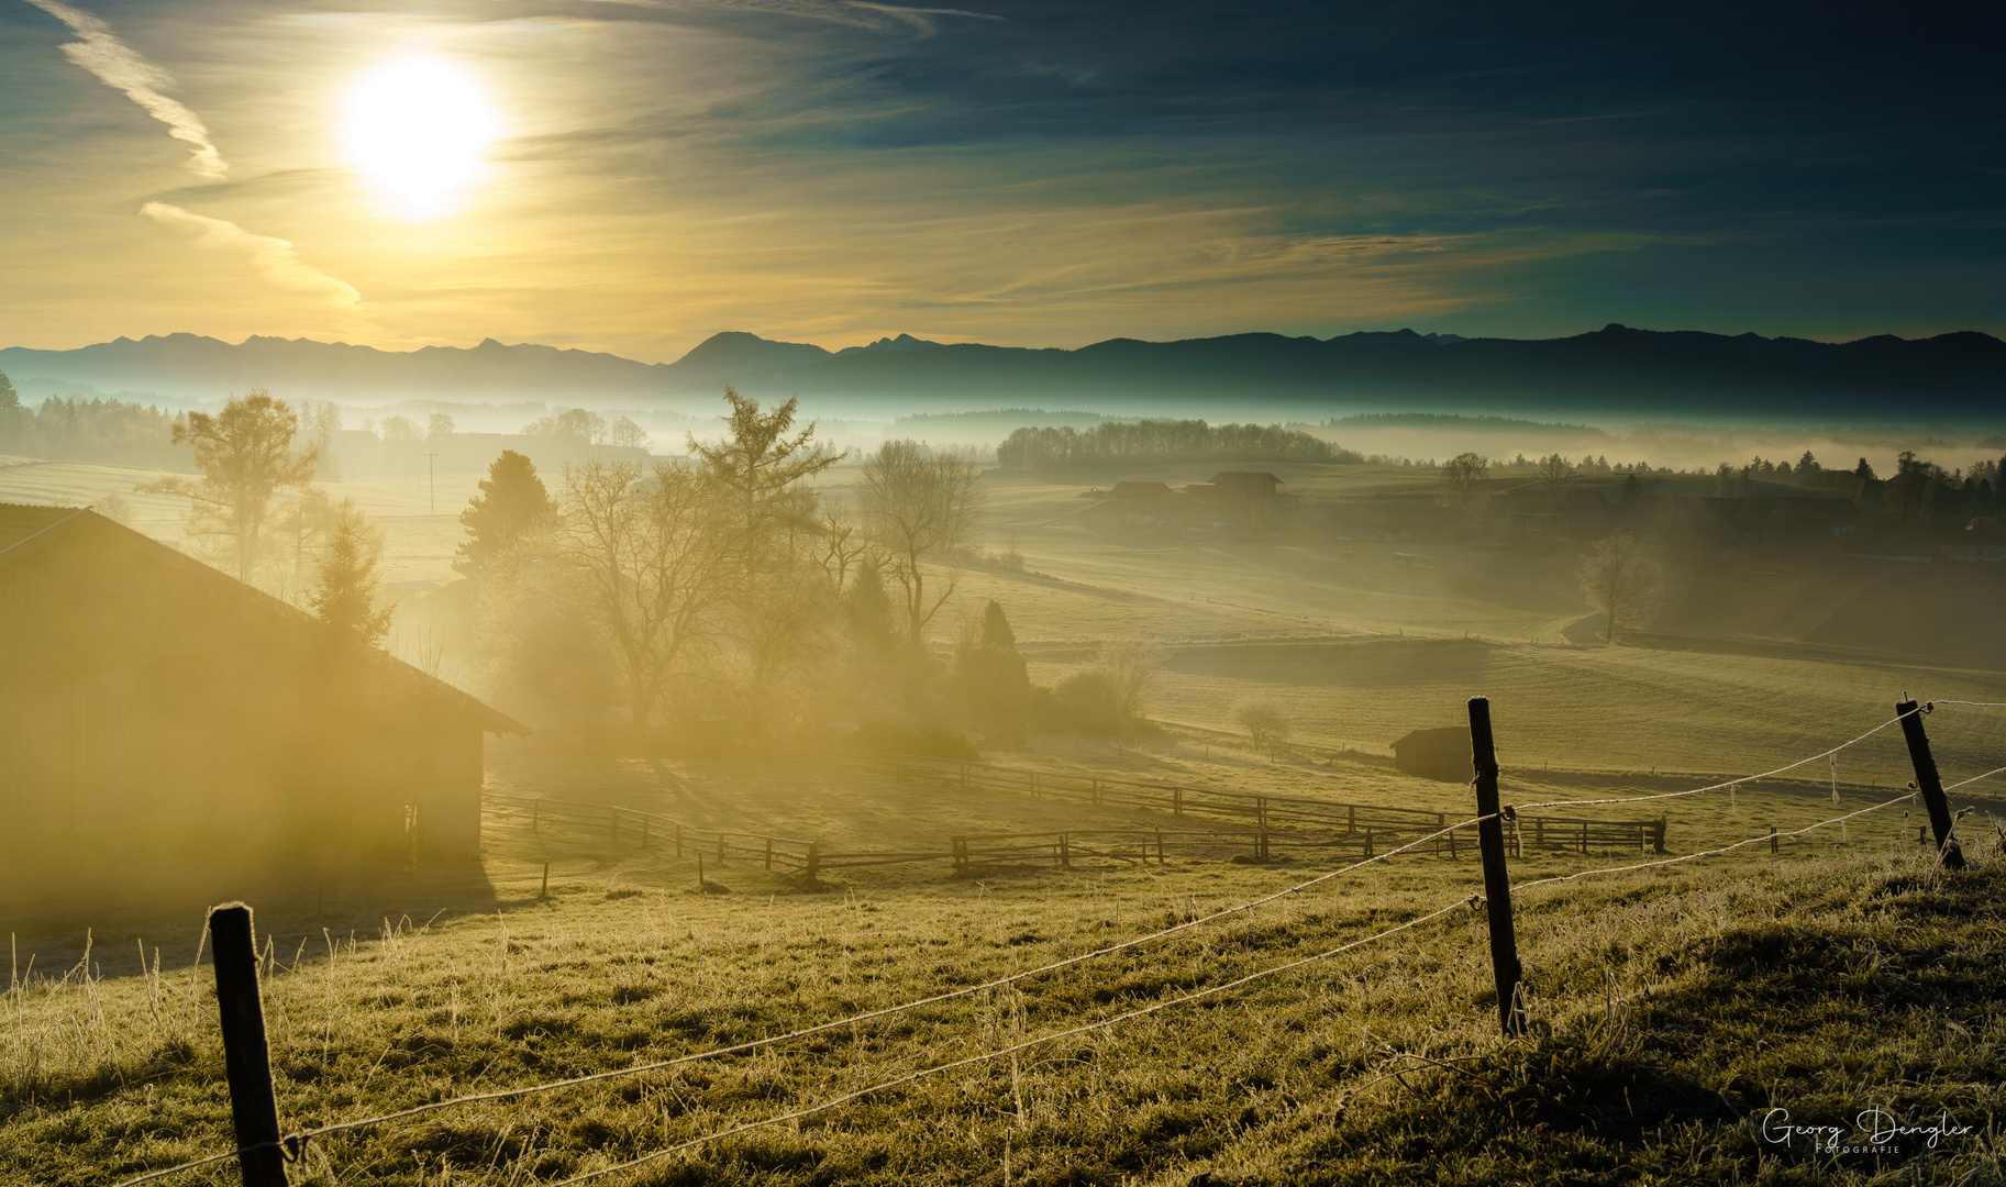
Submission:
[[[437,58],[401,58],[349,90],[347,158],[405,219],[453,211],[499,132],[501,118],[481,84]]]

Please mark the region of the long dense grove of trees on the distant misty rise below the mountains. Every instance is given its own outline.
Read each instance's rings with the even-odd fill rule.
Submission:
[[[1021,427],[997,445],[1005,469],[1069,469],[1157,461],[1326,461],[1364,463],[1302,429],[1282,425],[1208,425],[1206,421],[1107,421],[1091,429]]]

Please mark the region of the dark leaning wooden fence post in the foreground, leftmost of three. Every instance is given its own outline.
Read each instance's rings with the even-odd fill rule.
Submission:
[[[237,1147],[243,1149],[239,1165],[245,1187],[285,1187],[279,1101],[271,1091],[265,1007],[257,995],[257,940],[251,934],[251,908],[243,902],[213,908],[209,912],[209,938],[215,944],[217,962],[223,1073],[231,1083],[231,1119],[237,1123]]]

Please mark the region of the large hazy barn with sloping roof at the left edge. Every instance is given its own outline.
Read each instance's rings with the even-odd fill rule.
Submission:
[[[92,511],[0,505],[0,836],[36,864],[463,860],[528,730]]]

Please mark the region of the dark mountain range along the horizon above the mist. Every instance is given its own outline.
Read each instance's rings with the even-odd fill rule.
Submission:
[[[828,351],[720,333],[674,363],[504,345],[381,351],[347,343],[199,335],[116,339],[74,351],[0,349],[20,381],[217,399],[279,395],[520,401],[708,409],[724,383],[762,399],[798,393],[816,413],[887,415],[1067,405],[1129,413],[1246,409],[1589,411],[1603,417],[1842,417],[2006,423],[2006,343],[1982,333],[1850,343],[1609,325],[1563,339],[1244,333],[1065,349],[933,343],[899,335]]]

